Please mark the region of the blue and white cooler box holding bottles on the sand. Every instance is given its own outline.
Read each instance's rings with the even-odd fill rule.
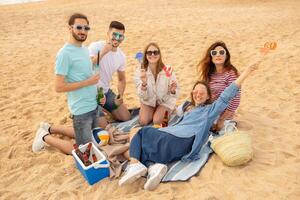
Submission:
[[[79,150],[81,152],[84,152],[88,146],[88,143],[85,145],[80,145]],[[95,154],[97,157],[97,162],[92,163],[89,166],[85,166],[83,162],[79,159],[77,154],[75,153],[75,150],[73,149],[72,155],[75,160],[76,166],[81,172],[81,174],[84,176],[84,178],[87,180],[87,182],[90,185],[93,185],[100,181],[101,179],[104,179],[106,177],[109,177],[109,162],[106,160],[106,157],[104,154],[92,143],[91,153],[89,160],[93,161],[92,154]]]

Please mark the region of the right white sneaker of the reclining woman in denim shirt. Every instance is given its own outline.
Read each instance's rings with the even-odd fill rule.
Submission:
[[[151,165],[148,169],[147,182],[144,185],[145,190],[154,190],[157,188],[162,178],[168,171],[167,165],[156,163]]]

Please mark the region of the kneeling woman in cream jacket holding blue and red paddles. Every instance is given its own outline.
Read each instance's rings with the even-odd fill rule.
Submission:
[[[174,109],[179,90],[175,73],[162,62],[156,43],[146,46],[143,62],[135,73],[135,84],[141,102],[140,124],[153,121],[161,125],[165,112]]]

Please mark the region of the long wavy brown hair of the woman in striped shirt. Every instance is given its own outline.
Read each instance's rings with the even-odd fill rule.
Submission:
[[[221,46],[226,51],[226,59],[224,62],[225,71],[233,70],[236,75],[238,75],[237,69],[230,62],[230,53],[226,44],[222,41],[217,41],[213,43],[206,51],[204,58],[202,58],[197,66],[198,72],[200,72],[200,80],[209,83],[211,74],[216,71],[216,66],[212,62],[212,57],[210,55],[210,51],[214,50],[216,47]]]

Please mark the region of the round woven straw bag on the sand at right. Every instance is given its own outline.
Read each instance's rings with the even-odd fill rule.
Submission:
[[[233,133],[220,136],[211,142],[211,148],[228,166],[243,165],[250,161],[253,156],[250,136],[242,131],[237,130]]]

